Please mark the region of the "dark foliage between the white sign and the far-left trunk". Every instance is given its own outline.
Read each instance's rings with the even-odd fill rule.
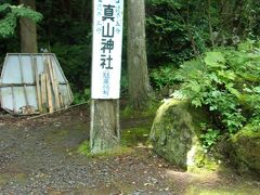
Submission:
[[[37,2],[37,9],[44,15],[38,28],[39,50],[56,54],[76,100],[84,99],[90,86],[92,2],[44,0]]]

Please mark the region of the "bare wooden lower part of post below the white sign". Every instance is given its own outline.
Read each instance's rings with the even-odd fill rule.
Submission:
[[[120,144],[118,100],[92,100],[90,151],[103,153]]]

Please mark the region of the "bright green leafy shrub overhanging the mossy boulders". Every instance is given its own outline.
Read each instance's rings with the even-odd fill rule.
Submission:
[[[194,106],[207,107],[222,133],[235,133],[251,120],[260,121],[259,60],[259,43],[252,41],[238,49],[207,52],[181,65],[177,73],[177,79],[182,81],[180,91]],[[208,133],[204,139],[213,140],[209,136],[214,131]]]

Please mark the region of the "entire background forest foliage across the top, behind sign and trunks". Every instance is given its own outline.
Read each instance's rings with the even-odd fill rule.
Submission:
[[[183,62],[202,55],[209,48],[235,47],[246,38],[257,39],[260,32],[258,1],[147,0],[145,2],[148,68],[152,86],[159,90],[178,82],[174,72]],[[92,1],[43,0],[36,1],[36,5],[37,11],[43,15],[43,20],[38,25],[38,50],[48,49],[57,55],[73,86],[77,102],[82,102],[88,99],[89,94],[86,95],[84,91],[90,87]],[[41,16],[35,14],[18,5],[17,0],[1,1],[0,34],[4,37],[4,39],[0,38],[1,62],[6,52],[20,52],[18,32],[15,31],[17,28],[14,28],[16,18],[32,16],[38,21]],[[6,37],[10,34],[13,36]],[[125,40],[126,34],[127,30],[125,30]],[[122,53],[123,95],[128,88],[126,42],[123,41]],[[256,89],[247,93],[257,94]]]

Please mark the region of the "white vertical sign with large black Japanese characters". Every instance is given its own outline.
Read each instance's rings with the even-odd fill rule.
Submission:
[[[92,99],[119,99],[123,0],[94,0]]]

